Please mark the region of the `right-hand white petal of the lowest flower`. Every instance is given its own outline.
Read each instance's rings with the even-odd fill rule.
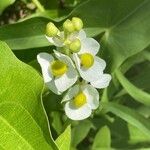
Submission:
[[[86,100],[91,109],[96,109],[99,106],[99,93],[91,85],[86,84],[81,87],[83,93],[86,95]]]

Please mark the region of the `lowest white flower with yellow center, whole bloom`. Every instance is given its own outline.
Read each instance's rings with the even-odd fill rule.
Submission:
[[[92,110],[99,106],[99,93],[89,84],[75,85],[72,87],[62,102],[65,104],[65,113],[72,120],[88,118]]]

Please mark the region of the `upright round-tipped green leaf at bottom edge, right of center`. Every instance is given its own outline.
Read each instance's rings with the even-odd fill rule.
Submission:
[[[108,126],[102,127],[95,136],[92,150],[111,149],[111,134]]]

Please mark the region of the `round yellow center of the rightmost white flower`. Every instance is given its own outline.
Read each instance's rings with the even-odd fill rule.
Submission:
[[[90,53],[84,53],[80,55],[81,65],[84,68],[90,68],[94,63],[94,57]]]

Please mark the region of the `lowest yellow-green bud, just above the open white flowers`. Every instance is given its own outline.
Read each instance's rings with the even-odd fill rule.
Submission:
[[[81,42],[79,39],[75,39],[69,46],[69,49],[71,50],[71,52],[73,53],[77,53],[80,51],[81,49]]]

